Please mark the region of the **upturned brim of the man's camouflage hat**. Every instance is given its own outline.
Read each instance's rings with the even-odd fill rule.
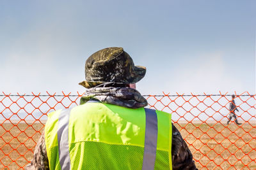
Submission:
[[[134,74],[129,80],[125,80],[125,82],[116,82],[116,83],[124,83],[124,84],[134,84],[138,83],[146,74],[146,67],[143,66],[134,66]],[[79,85],[85,87],[86,89],[90,89],[92,87],[96,87],[102,83],[108,83],[106,81],[82,81]]]

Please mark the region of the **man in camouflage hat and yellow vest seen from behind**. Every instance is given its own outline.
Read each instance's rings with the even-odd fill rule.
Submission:
[[[80,105],[49,114],[27,169],[196,169],[171,114],[134,89],[145,73],[123,48],[93,53]]]

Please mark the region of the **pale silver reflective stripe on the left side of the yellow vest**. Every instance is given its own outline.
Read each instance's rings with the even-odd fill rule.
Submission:
[[[62,110],[58,121],[58,148],[61,169],[70,168],[70,155],[68,146],[68,122],[71,109]]]

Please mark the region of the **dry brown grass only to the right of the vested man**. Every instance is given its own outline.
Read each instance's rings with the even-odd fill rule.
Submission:
[[[255,124],[175,124],[198,169],[256,169]]]

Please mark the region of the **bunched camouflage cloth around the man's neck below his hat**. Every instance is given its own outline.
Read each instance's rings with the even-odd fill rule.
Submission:
[[[129,87],[94,87],[86,90],[81,97],[80,104],[90,99],[97,99],[102,103],[115,104],[125,108],[141,108],[148,105],[140,92]]]

